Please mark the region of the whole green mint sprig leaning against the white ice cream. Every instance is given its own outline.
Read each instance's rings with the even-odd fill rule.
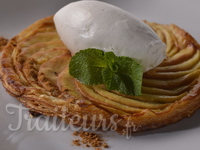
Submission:
[[[76,53],[69,73],[85,85],[105,84],[107,90],[141,95],[143,69],[134,59],[89,48]]]

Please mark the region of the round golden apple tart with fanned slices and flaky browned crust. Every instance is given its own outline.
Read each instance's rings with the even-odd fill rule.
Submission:
[[[200,106],[200,46],[176,25],[145,23],[166,44],[167,58],[144,73],[141,96],[84,85],[70,76],[71,53],[52,16],[32,24],[4,47],[3,86],[31,111],[77,126],[118,132],[134,127],[138,132],[189,117]]]

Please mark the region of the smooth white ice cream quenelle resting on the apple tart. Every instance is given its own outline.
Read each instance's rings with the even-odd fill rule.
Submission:
[[[54,16],[57,32],[72,55],[87,48],[135,59],[144,72],[165,59],[165,44],[142,20],[100,1],[77,1]]]

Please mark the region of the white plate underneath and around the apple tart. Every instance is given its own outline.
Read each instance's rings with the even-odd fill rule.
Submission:
[[[151,22],[174,23],[188,31],[200,42],[200,1],[199,0],[105,0],[119,6],[135,16]],[[0,36],[11,38],[36,20],[54,14],[59,8],[69,3],[69,0],[0,0]],[[48,121],[48,117],[40,119],[27,118],[27,110],[14,108],[19,102],[8,95],[0,86],[0,149],[1,150],[80,150],[88,149],[72,145],[76,139],[74,129],[67,126],[63,131],[59,121]],[[24,107],[22,107],[24,109]],[[20,115],[19,115],[20,114]],[[22,115],[21,115],[22,114]],[[22,118],[20,118],[20,116]],[[102,133],[110,149],[113,150],[188,150],[198,149],[200,139],[200,112],[191,118],[184,119],[168,127],[147,131],[127,139],[113,132]],[[57,130],[29,131],[37,122],[40,128],[45,120]],[[20,124],[21,123],[21,124]],[[31,125],[30,125],[31,124]],[[52,127],[51,126],[51,127]],[[16,131],[12,131],[16,130]]]

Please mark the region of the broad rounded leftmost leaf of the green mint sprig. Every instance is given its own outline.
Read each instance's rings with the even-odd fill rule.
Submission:
[[[107,67],[102,59],[104,52],[97,49],[81,50],[76,53],[69,64],[69,73],[86,85],[102,84],[102,68]]]

